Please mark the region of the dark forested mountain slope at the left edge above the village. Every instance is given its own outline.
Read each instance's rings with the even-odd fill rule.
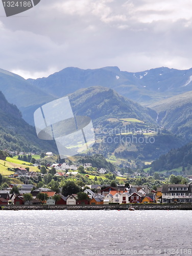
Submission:
[[[57,152],[54,143],[37,138],[34,127],[30,126],[21,117],[17,107],[8,103],[0,92],[0,150],[8,151],[35,151]]]

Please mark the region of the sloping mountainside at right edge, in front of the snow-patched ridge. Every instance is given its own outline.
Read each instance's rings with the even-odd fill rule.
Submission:
[[[192,140],[192,91],[151,104],[158,123],[174,134]]]

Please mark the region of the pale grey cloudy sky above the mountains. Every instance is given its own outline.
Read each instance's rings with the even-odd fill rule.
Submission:
[[[0,3],[0,46],[0,68],[25,78],[66,67],[189,69],[192,1],[41,0],[12,17]]]

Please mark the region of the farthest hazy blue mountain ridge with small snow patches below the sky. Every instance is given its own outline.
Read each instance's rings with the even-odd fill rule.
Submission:
[[[66,68],[49,77],[28,79],[55,97],[81,88],[103,86],[143,105],[192,90],[192,69],[156,68],[142,72],[120,71],[118,67],[82,70]]]

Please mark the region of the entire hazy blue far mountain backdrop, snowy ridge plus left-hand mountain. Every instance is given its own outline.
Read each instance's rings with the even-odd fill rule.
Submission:
[[[192,69],[156,68],[142,72],[118,67],[82,70],[65,68],[49,77],[24,79],[0,69],[0,90],[16,104],[23,119],[34,124],[33,113],[44,103],[83,88],[101,86],[115,90],[143,106],[192,90]]]

